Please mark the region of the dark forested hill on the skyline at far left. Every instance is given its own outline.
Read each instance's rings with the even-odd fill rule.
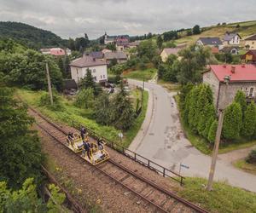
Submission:
[[[20,22],[0,21],[0,38],[13,38],[29,48],[62,46],[64,40],[53,32],[45,31]]]

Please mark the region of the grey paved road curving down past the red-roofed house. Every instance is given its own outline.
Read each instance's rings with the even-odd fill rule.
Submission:
[[[129,80],[129,83],[142,85],[142,82],[136,80]],[[211,158],[191,146],[183,135],[173,99],[176,93],[167,93],[166,89],[155,83],[145,83],[145,88],[149,91],[146,119],[129,148],[177,172],[181,163],[188,165],[189,169],[181,171],[183,176],[207,178]],[[256,192],[256,176],[234,168],[229,154],[218,157],[214,178]]]

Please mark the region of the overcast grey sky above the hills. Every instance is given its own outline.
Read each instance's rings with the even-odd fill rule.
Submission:
[[[256,20],[256,0],[0,0],[0,20],[63,37],[142,35],[218,22]]]

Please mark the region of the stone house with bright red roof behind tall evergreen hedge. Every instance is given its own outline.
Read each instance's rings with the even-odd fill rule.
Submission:
[[[203,72],[203,83],[212,88],[215,107],[224,109],[234,101],[238,90],[243,91],[248,99],[256,97],[256,66],[210,65]]]

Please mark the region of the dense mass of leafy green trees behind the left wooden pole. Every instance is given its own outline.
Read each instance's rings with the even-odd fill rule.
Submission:
[[[52,56],[26,49],[9,39],[0,40],[0,75],[7,85],[46,89],[46,61],[49,63],[51,83],[60,90],[62,74]]]

